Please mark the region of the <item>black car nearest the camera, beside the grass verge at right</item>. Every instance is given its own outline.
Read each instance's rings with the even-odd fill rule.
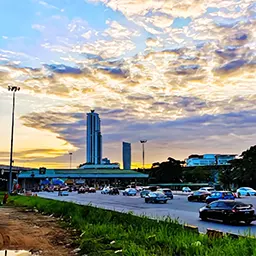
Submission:
[[[199,218],[222,220],[225,223],[244,221],[246,224],[256,220],[251,204],[234,200],[218,200],[207,204],[199,210]]]

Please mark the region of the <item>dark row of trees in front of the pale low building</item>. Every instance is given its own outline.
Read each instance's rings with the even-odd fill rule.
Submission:
[[[184,161],[169,157],[167,161],[153,163],[144,172],[149,174],[150,183],[218,182],[225,189],[256,188],[256,145],[244,151],[239,158],[229,161],[229,165],[189,168],[184,164]]]

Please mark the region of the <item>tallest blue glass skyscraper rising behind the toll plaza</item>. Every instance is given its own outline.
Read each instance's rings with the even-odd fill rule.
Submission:
[[[102,136],[100,132],[99,114],[91,110],[87,113],[87,163],[101,164]]]

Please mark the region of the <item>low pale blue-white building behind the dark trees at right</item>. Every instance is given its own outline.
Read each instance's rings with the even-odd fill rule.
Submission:
[[[190,155],[186,159],[186,166],[228,165],[236,155],[205,154]]]

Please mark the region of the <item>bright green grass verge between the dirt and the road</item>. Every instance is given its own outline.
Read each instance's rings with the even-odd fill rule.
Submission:
[[[185,230],[171,219],[157,221],[38,197],[13,196],[9,203],[62,217],[67,225],[81,232],[81,255],[256,256],[255,239],[210,239]]]

